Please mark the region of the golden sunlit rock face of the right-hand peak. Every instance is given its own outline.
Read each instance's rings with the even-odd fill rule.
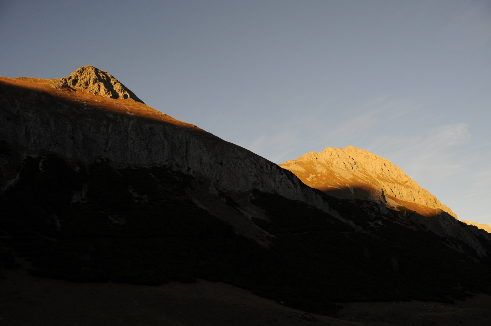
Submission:
[[[368,199],[387,206],[397,206],[394,200],[407,201],[441,209],[457,218],[450,208],[419,187],[401,168],[353,146],[327,147],[323,152],[310,152],[280,166],[295,173],[306,185],[339,198]]]

